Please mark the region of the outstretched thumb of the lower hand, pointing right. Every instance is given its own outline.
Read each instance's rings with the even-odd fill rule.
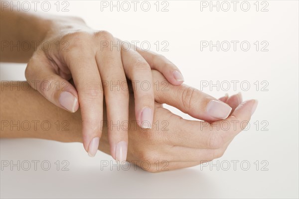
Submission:
[[[158,71],[152,71],[152,74],[154,81],[158,82],[159,89],[154,91],[154,99],[159,103],[167,103],[205,121],[225,119],[232,110],[228,104],[192,87],[167,84]]]

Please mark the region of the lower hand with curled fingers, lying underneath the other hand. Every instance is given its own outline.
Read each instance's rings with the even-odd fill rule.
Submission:
[[[159,72],[152,71],[152,74],[154,81],[165,81]],[[135,118],[134,101],[130,101],[131,127],[127,161],[149,172],[191,167],[221,157],[233,138],[246,127],[257,107],[257,100],[242,102],[241,94],[229,98],[226,96],[220,100],[231,106],[230,116],[211,122],[207,110],[211,101],[218,100],[186,85],[169,85],[167,89],[168,91],[155,91],[157,102],[154,125],[148,130],[135,126],[132,122]],[[161,103],[170,104],[206,121],[183,119],[163,108]],[[223,125],[226,123],[229,124],[229,128]],[[100,150],[109,153],[107,137],[104,135],[103,138]],[[147,164],[143,165],[145,161]]]

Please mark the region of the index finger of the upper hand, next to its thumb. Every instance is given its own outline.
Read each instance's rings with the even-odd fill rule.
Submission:
[[[103,89],[94,52],[84,46],[72,48],[63,56],[78,91],[82,114],[83,146],[88,155],[94,157],[102,134]]]

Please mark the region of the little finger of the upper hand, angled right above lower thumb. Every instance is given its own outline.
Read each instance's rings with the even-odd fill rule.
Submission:
[[[119,41],[122,42],[120,39]],[[137,52],[149,63],[151,69],[161,72],[172,85],[181,85],[184,82],[184,78],[179,69],[164,56],[151,51],[144,51],[137,46],[134,46],[134,49],[136,49]]]

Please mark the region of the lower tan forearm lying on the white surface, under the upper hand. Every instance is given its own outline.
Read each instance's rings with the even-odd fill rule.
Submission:
[[[80,109],[75,113],[63,110],[30,88],[26,83],[11,87],[1,82],[0,137],[40,138],[61,142],[82,142]],[[19,91],[18,91],[19,89]],[[106,108],[104,106],[104,118]],[[101,121],[99,121],[101,122]],[[100,150],[110,154],[107,127],[103,127]]]

